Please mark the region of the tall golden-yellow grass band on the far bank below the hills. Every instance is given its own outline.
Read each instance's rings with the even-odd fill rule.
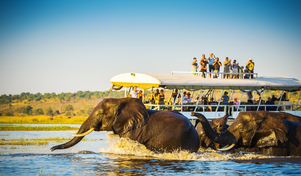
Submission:
[[[47,116],[27,116],[27,117],[0,117],[0,123],[17,124],[82,124],[87,117],[47,117]]]

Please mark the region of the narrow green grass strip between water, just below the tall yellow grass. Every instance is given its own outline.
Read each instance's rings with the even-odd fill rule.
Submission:
[[[23,125],[2,125],[0,131],[66,131],[78,130],[78,127],[71,126],[23,126]]]

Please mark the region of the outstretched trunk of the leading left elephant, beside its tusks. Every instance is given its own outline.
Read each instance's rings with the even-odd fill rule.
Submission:
[[[82,125],[80,126],[77,134],[85,133],[85,132],[87,132],[90,129],[90,127],[89,127],[90,123],[88,123],[88,121],[89,121],[88,119],[85,120],[84,123],[82,123]],[[84,138],[84,137],[85,136],[74,137],[73,139],[71,139],[70,141],[66,142],[65,144],[61,144],[61,145],[57,145],[57,146],[51,147],[50,150],[53,151],[53,150],[57,150],[57,149],[66,149],[66,148],[72,147],[75,144],[79,143],[79,141],[81,141],[82,138]]]

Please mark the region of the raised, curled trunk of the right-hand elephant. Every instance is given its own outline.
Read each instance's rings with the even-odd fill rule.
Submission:
[[[200,123],[205,130],[206,135],[210,138],[211,141],[218,144],[236,144],[235,136],[227,129],[222,133],[218,133],[212,129],[209,121],[206,119],[203,114],[192,112],[191,116],[195,116],[200,120]]]

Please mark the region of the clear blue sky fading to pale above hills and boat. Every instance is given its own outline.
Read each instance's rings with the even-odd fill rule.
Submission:
[[[301,1],[0,0],[0,95],[105,91],[214,53],[301,80]]]

